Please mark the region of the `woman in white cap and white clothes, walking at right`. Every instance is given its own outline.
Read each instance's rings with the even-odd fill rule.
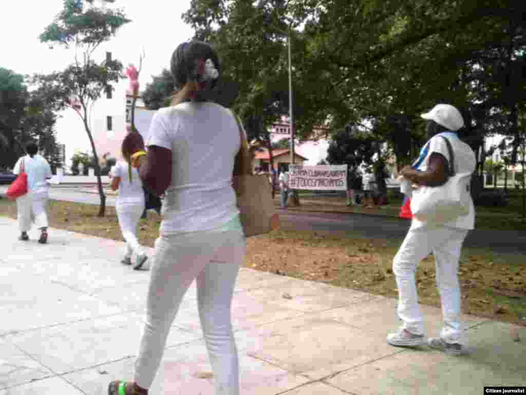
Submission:
[[[416,169],[406,166],[401,175],[420,187],[444,187],[448,181],[451,161],[448,145],[451,143],[456,173],[473,173],[476,157],[469,145],[462,142],[457,133],[464,126],[462,115],[449,104],[438,104],[430,112],[421,115],[428,120],[428,143],[422,149]],[[440,136],[439,136],[440,135]],[[423,188],[413,193],[422,193]],[[469,190],[466,190],[469,194]],[[469,213],[448,223],[412,220],[411,228],[393,260],[393,272],[398,286],[398,316],[403,325],[396,333],[387,336],[392,345],[414,347],[424,343],[423,317],[418,305],[415,272],[419,262],[433,252],[436,260],[437,287],[443,313],[443,328],[438,338],[429,338],[428,345],[448,353],[466,351],[467,340],[461,322],[461,298],[458,280],[459,258],[462,243],[470,229],[474,228],[475,210],[471,196]]]

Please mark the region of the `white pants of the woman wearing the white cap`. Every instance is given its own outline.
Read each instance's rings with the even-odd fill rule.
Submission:
[[[436,260],[436,281],[444,320],[440,337],[448,343],[466,342],[460,320],[458,270],[460,251],[467,234],[467,230],[447,226],[424,226],[409,230],[393,260],[393,273],[398,285],[398,316],[403,321],[403,327],[409,332],[424,333],[415,272],[419,262],[432,251]]]

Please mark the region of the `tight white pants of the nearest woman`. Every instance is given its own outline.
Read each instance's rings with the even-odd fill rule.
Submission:
[[[245,238],[234,230],[160,236],[156,240],[145,327],[135,363],[135,382],[140,387],[151,386],[181,300],[195,279],[216,395],[238,395],[238,355],[230,307],[245,253]]]

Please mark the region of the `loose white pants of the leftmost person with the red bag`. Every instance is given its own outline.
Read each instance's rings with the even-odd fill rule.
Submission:
[[[37,229],[47,228],[47,202],[49,192],[47,189],[28,191],[16,199],[18,226],[21,232],[28,232],[34,222]]]

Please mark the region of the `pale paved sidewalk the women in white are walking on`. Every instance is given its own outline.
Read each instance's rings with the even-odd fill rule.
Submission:
[[[122,242],[51,229],[40,245],[35,231],[25,243],[17,233],[0,217],[0,395],[105,395],[109,381],[132,378],[149,271],[119,263]],[[479,395],[526,382],[525,328],[466,316],[469,356],[395,348],[385,341],[395,305],[242,268],[232,308],[240,394]],[[422,310],[436,334],[440,310]],[[195,285],[166,347],[150,393],[213,395]]]

